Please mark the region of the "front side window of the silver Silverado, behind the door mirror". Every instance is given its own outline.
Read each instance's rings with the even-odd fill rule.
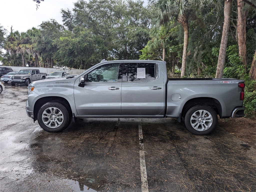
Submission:
[[[88,74],[87,82],[116,82],[119,77],[119,63],[98,67]]]

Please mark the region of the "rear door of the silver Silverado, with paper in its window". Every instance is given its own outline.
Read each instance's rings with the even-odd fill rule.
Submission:
[[[122,114],[151,116],[164,113],[164,79],[162,65],[153,62],[124,63]]]

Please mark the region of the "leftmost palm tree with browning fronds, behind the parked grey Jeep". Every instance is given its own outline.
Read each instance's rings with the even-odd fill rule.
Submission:
[[[7,37],[7,42],[5,44],[5,48],[10,50],[12,54],[21,54],[22,55],[22,66],[25,67],[25,59],[24,53],[26,49],[22,44],[24,43],[25,33],[19,33],[19,31],[15,31],[14,33],[10,33]]]

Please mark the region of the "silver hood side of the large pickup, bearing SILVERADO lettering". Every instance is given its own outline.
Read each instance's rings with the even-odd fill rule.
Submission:
[[[56,85],[73,85],[74,81],[76,78],[72,79],[66,79],[65,77],[63,78],[58,78],[58,79],[43,79],[43,80],[38,80],[31,82],[29,86],[56,86]]]

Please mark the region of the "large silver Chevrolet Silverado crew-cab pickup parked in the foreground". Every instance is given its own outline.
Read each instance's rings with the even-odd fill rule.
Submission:
[[[220,118],[244,116],[244,81],[167,79],[166,63],[103,61],[72,79],[30,83],[27,115],[48,132],[76,118],[177,118],[189,132],[211,133]]]

